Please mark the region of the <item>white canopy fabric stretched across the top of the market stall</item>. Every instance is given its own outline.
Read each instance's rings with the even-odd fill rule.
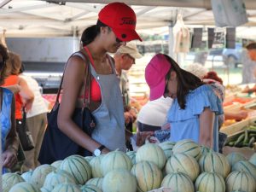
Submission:
[[[114,1],[106,0],[104,3]],[[137,14],[137,31],[168,34],[168,26],[183,15],[185,25],[214,26],[210,0],[126,0]],[[237,37],[256,38],[256,3],[244,0],[249,22],[237,27]],[[100,0],[0,0],[0,33],[7,37],[79,36],[94,25],[105,4]],[[1,8],[2,7],[2,8]]]

